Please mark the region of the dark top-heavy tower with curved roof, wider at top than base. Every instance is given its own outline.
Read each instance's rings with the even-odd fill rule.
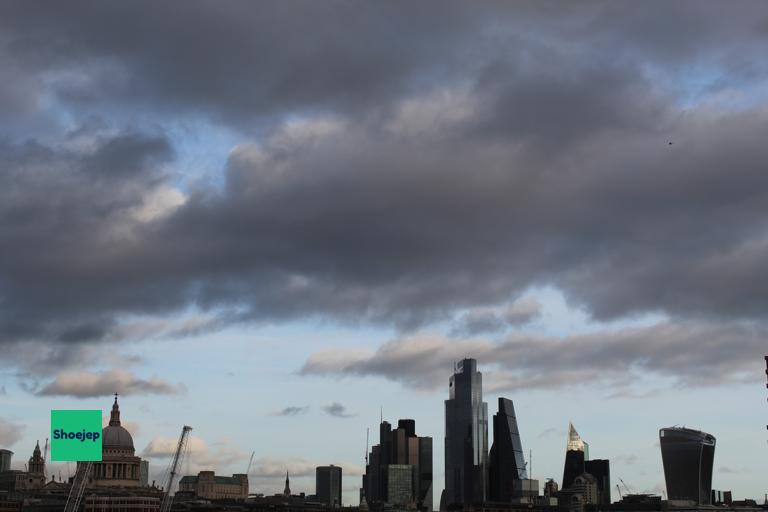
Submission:
[[[715,437],[682,427],[659,430],[667,497],[711,505]]]

